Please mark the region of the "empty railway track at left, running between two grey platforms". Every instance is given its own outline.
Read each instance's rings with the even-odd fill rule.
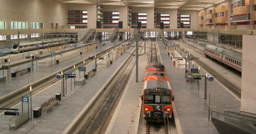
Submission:
[[[120,42],[117,44],[117,46],[121,45],[123,42]],[[112,48],[108,48],[102,52],[98,52],[96,55],[98,56],[104,56],[106,54],[106,52],[111,51]],[[45,78],[42,78],[41,80],[37,80],[35,82],[32,82],[31,85],[33,87],[33,91],[32,91],[32,95],[34,95],[35,93],[45,89],[47,86],[50,86],[51,84],[54,84],[55,82],[57,82],[58,80],[56,80],[55,75],[57,73],[61,73],[61,71],[65,72],[68,71],[69,69],[73,69],[74,65],[77,67],[76,70],[78,70],[78,67],[80,67],[81,65],[87,65],[91,62],[88,58],[85,59],[85,63],[83,63],[84,60],[78,61],[77,63],[73,64],[73,65],[69,65],[68,67],[65,67],[59,71],[56,71],[55,73],[52,73],[49,76],[46,76]],[[0,107],[1,108],[10,108],[11,106],[14,106],[15,104],[20,102],[20,98],[22,96],[26,96],[29,94],[29,85],[28,86],[24,86],[20,89],[17,89],[16,91],[9,93],[8,95],[5,95],[4,97],[0,98]],[[0,112],[3,112],[4,110],[0,110]]]

